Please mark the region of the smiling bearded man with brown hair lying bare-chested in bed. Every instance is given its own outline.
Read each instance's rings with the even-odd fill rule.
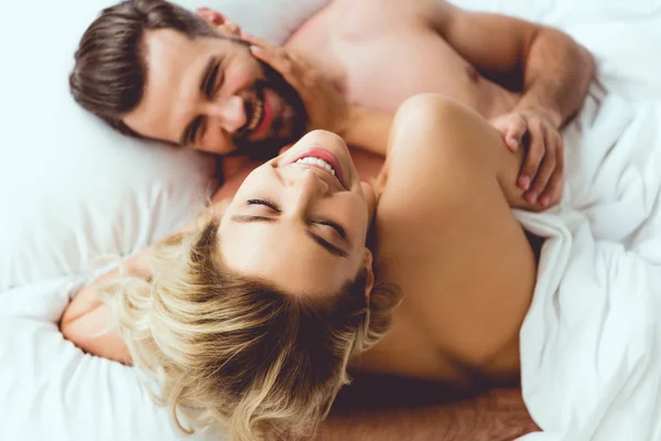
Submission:
[[[208,9],[198,15],[205,21],[161,0],[132,0],[104,11],[76,54],[74,97],[128,135],[219,154],[275,154],[308,125],[299,94],[251,54],[225,17]],[[579,109],[594,71],[590,55],[567,35],[440,0],[335,0],[285,50],[329,75],[348,100],[381,111],[393,112],[423,92],[473,107],[510,149],[527,149],[518,183],[528,202],[543,208],[559,198],[559,130]],[[354,143],[373,152],[386,148]],[[509,407],[518,411],[509,416],[520,418],[520,398]],[[409,415],[332,418],[322,433],[387,440],[440,439],[454,431],[451,439],[476,439],[485,435],[479,430],[486,422],[488,439],[498,439],[498,426],[509,430],[500,433],[507,439],[530,428],[529,421],[520,427],[485,421],[494,409],[501,404],[478,400]],[[469,422],[462,427],[462,421]]]

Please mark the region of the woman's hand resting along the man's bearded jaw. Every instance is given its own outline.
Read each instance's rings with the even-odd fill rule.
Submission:
[[[339,87],[303,56],[242,33],[250,52],[279,72],[296,89],[308,117],[308,129],[324,129],[344,136],[350,126],[351,106]]]

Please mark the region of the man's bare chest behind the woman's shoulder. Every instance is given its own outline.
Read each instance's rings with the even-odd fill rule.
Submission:
[[[495,85],[459,56],[433,29],[412,18],[364,18],[357,31],[324,12],[313,18],[288,46],[305,54],[342,85],[349,100],[393,111],[407,98],[438,93],[478,111],[492,100]]]

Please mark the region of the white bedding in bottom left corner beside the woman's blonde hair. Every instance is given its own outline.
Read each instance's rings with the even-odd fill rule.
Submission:
[[[154,406],[131,367],[84,354],[57,321],[76,278],[0,294],[0,440],[204,440],[185,438]]]

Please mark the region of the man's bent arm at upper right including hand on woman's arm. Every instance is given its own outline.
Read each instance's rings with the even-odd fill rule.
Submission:
[[[557,201],[564,172],[559,130],[583,105],[595,73],[590,53],[565,33],[541,24],[468,12],[443,0],[426,0],[424,8],[431,25],[478,71],[508,78],[508,84],[519,79],[521,99],[491,123],[511,150],[528,135],[518,178],[527,201],[543,208]]]

